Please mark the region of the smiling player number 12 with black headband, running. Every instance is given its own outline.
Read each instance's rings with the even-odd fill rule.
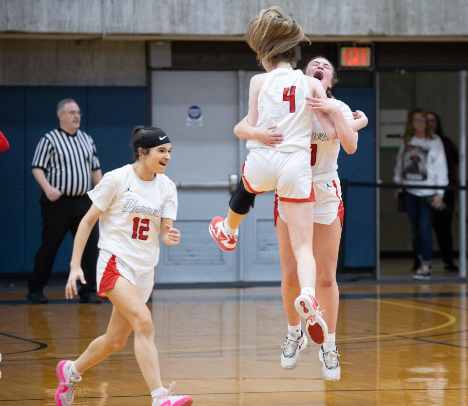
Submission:
[[[180,241],[173,227],[177,213],[176,185],[164,175],[171,143],[157,128],[137,127],[132,134],[135,163],[104,175],[88,192],[93,204],[78,226],[65,296],[77,294],[76,282],[86,283],[80,262],[89,233],[99,219],[98,295],[113,304],[105,334],[96,338],[76,361],[57,365],[57,406],[71,406],[81,374],[125,347],[135,331],[135,356],[153,397],[153,406],[190,406],[190,396],[174,395],[174,383],[162,386],[154,325],[146,306],[159,259],[158,235],[167,245]]]

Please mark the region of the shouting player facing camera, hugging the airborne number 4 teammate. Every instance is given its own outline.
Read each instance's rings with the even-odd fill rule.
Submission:
[[[317,266],[317,298],[327,311],[324,319],[329,332],[319,350],[322,362],[322,376],[326,380],[340,379],[338,349],[335,346],[336,320],[338,316],[338,286],[336,284],[336,265],[343,225],[344,208],[341,202],[340,182],[337,174],[337,159],[340,145],[347,153],[357,148],[357,131],[367,125],[367,118],[361,111],[351,113],[343,102],[333,98],[330,88],[336,83],[336,75],[331,63],[323,57],[315,57],[309,62],[306,74],[320,80],[327,90],[327,99],[312,98],[308,104],[317,113],[331,114],[333,126],[327,122],[322,125],[314,118],[311,140],[311,167],[315,194],[313,218],[313,250]],[[353,120],[354,118],[354,120]],[[276,145],[282,137],[279,132],[269,128],[255,129],[244,119],[234,131],[239,138],[256,138],[264,143]],[[289,237],[290,223],[283,213],[281,200],[275,198],[274,221],[278,237],[281,261],[281,293],[288,321],[288,334],[281,353],[281,367],[292,369],[298,365],[299,351],[305,347],[299,315],[306,320],[306,331],[313,326],[308,320],[309,306],[307,297],[299,295],[300,284],[296,274],[296,260],[293,255],[292,241]],[[312,225],[312,224],[311,224]],[[312,332],[313,333],[313,332]],[[306,341],[307,343],[307,341]]]

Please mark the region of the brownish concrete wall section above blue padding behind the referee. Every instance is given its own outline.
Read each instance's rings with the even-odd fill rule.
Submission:
[[[146,86],[145,43],[0,39],[0,85]]]

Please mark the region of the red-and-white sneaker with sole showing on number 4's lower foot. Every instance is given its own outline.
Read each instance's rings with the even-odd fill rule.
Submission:
[[[327,338],[328,327],[319,312],[320,305],[312,295],[299,295],[294,300],[297,313],[306,321],[306,332],[316,344],[323,344]]]

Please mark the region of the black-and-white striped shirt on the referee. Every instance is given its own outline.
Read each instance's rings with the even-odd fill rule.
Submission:
[[[93,139],[78,129],[75,135],[53,129],[40,140],[33,168],[41,168],[49,183],[65,196],[83,196],[93,188],[91,170],[99,169]]]

